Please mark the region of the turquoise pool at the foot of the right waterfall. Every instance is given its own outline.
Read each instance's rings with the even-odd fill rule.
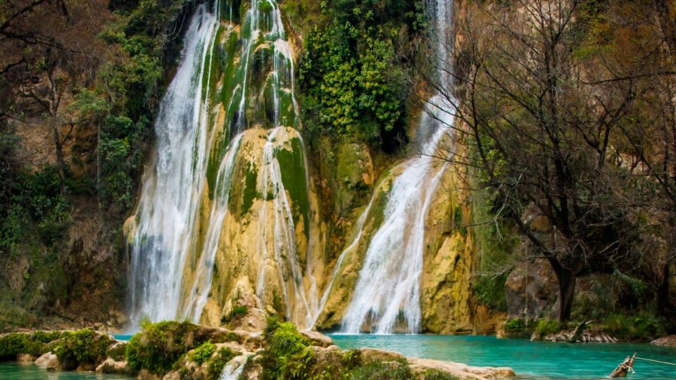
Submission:
[[[522,379],[602,379],[627,355],[676,362],[676,349],[648,344],[531,342],[492,336],[338,335],[340,348],[373,347],[407,356],[512,367]],[[676,379],[676,366],[637,360],[630,379]]]

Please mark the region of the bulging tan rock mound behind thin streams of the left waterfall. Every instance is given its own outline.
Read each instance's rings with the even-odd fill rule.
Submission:
[[[274,310],[274,314],[289,317],[300,327],[304,327],[308,315],[306,306],[308,302],[299,295],[309,294],[313,283],[321,283],[327,272],[324,267],[318,213],[314,211],[318,207],[317,199],[311,183],[307,194],[308,205],[296,204],[301,200],[294,199],[296,194],[292,193],[292,186],[285,186],[289,189],[282,195],[289,200],[293,214],[292,227],[295,236],[292,236],[292,241],[295,244],[292,249],[296,251],[301,267],[305,262],[313,263],[314,267],[309,271],[311,274],[307,274],[305,267],[301,269],[302,278],[292,274],[289,261],[292,253],[289,253],[289,247],[282,248],[282,252],[275,251],[275,239],[272,238],[275,236],[276,228],[274,201],[268,198],[268,194],[262,194],[265,178],[261,167],[263,149],[268,143],[271,131],[272,129],[254,127],[242,134],[242,141],[234,161],[228,213],[223,220],[218,248],[215,251],[211,292],[201,313],[201,324],[259,330],[265,323],[265,313],[262,310]],[[302,158],[299,132],[287,127],[277,129],[276,133],[275,139],[271,139],[270,144],[273,144],[278,152],[277,159],[282,160],[280,157],[283,156],[284,159],[296,160],[294,163],[298,163]],[[302,161],[299,165],[302,165]],[[300,176],[298,170],[294,171],[294,167],[282,167],[282,182],[294,181],[296,182],[294,186],[298,186],[299,181],[303,185],[306,184],[306,179]],[[297,189],[299,188],[296,187]],[[199,254],[204,251],[206,231],[212,222],[213,191],[216,189],[209,189],[206,186],[201,196],[202,203],[194,234],[196,249],[188,254],[183,274],[185,284],[183,297],[186,301],[192,293],[200,262]],[[261,212],[263,208],[268,210],[265,225],[259,220],[264,214]],[[308,212],[301,213],[301,210]],[[268,238],[261,239],[261,234],[266,234]],[[313,249],[308,251],[308,246],[312,246]],[[308,276],[315,278],[311,279]],[[257,296],[261,296],[260,302]],[[194,303],[184,306],[190,308],[192,305]],[[247,312],[246,317],[233,321],[232,310],[242,305],[246,305],[251,312]]]

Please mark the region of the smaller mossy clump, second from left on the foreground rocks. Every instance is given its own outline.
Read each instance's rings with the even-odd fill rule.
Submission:
[[[66,331],[56,341],[54,353],[61,362],[96,364],[106,358],[113,340],[105,334],[96,334],[90,329]]]

